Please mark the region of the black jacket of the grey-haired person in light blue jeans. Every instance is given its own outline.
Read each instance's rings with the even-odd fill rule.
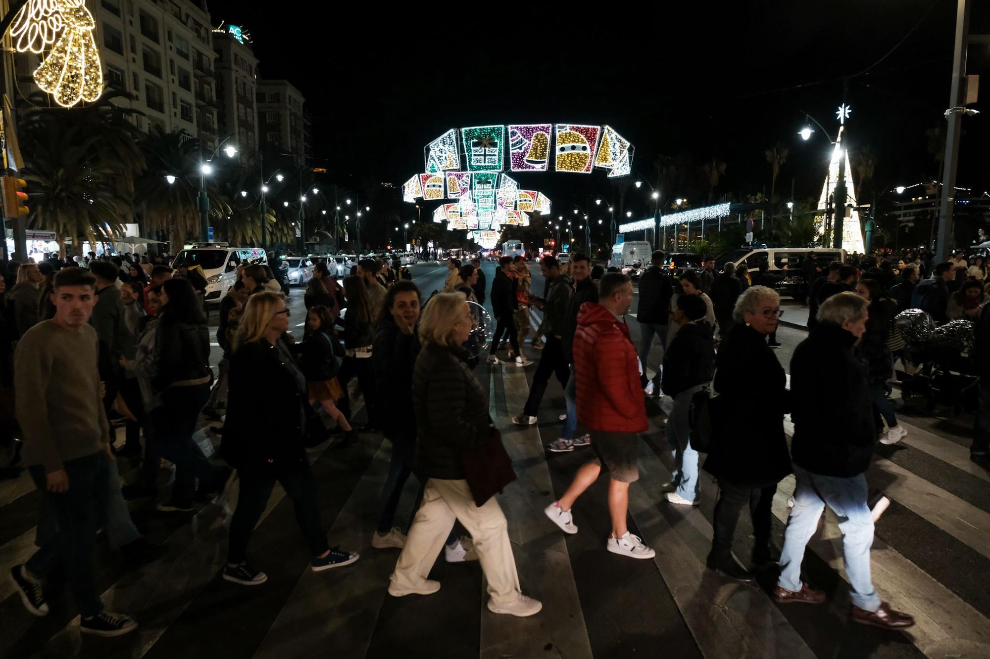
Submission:
[[[845,329],[820,324],[791,358],[791,451],[813,474],[851,478],[869,467],[876,426],[855,340]]]

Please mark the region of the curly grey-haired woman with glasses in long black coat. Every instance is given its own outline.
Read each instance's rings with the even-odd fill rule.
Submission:
[[[772,288],[751,286],[736,302],[737,325],[719,348],[715,390],[718,423],[704,469],[719,483],[712,550],[706,564],[728,577],[749,581],[752,574],[733,558],[733,536],[743,507],[749,507],[755,565],[776,558],[770,547],[770,504],[777,483],[791,473],[784,438],[784,413],[790,410],[784,369],[766,337],[777,329],[780,296]]]

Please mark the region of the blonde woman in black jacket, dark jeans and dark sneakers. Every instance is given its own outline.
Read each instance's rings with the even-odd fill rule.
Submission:
[[[277,481],[292,500],[306,537],[314,572],[349,565],[352,551],[327,544],[320,518],[317,482],[306,459],[306,378],[282,334],[289,310],[279,293],[255,293],[247,299],[241,327],[234,335],[231,385],[221,455],[241,478],[238,508],[231,519],[224,579],[257,586],[267,576],[247,563],[247,544]],[[258,414],[264,394],[266,411]]]

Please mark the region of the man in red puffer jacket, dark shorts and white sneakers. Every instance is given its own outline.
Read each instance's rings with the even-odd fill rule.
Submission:
[[[606,548],[630,558],[652,558],[653,550],[626,527],[629,484],[640,478],[639,433],[646,430],[640,361],[623,320],[632,303],[629,277],[609,272],[598,286],[598,304],[581,305],[574,333],[577,420],[591,431],[597,457],[578,469],[567,492],[547,506],[545,514],[564,532],[576,533],[570,507],[604,467],[609,472],[612,514]]]

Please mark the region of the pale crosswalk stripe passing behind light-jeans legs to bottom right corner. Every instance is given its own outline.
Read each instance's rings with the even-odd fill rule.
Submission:
[[[773,515],[785,524],[790,514],[787,500],[794,494],[794,476],[777,486]],[[816,533],[808,548],[825,560],[848,582],[842,556],[841,532],[827,511],[824,533]],[[873,585],[891,607],[915,617],[912,642],[930,657],[987,656],[990,653],[990,620],[906,559],[879,537],[870,550]],[[976,647],[981,652],[973,653]]]

